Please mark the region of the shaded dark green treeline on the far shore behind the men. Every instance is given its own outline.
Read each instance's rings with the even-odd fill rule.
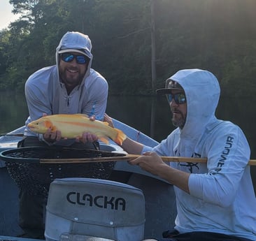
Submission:
[[[63,34],[81,31],[92,40],[92,67],[108,80],[111,94],[152,94],[182,68],[212,71],[222,94],[255,92],[255,0],[10,3],[22,17],[0,31],[0,90],[23,91],[31,73],[55,64]]]

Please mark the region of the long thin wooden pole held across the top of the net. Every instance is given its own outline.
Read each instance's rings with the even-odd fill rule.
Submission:
[[[39,159],[40,163],[89,163],[105,161],[131,161],[141,155],[127,154],[126,156],[107,156],[107,157],[87,157],[72,159]],[[206,163],[206,158],[180,157],[180,156],[161,156],[163,161],[171,162],[189,162],[189,163]],[[256,166],[256,160],[250,160],[248,165]]]

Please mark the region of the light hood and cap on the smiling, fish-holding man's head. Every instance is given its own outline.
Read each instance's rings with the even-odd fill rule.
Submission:
[[[90,61],[87,66],[85,78],[90,75],[90,68],[92,65],[92,42],[89,36],[81,34],[78,31],[68,31],[62,39],[59,41],[59,45],[56,48],[56,65],[59,72],[59,54],[64,52],[78,52],[87,56]],[[59,74],[59,73],[58,73]],[[84,78],[84,79],[85,79]]]

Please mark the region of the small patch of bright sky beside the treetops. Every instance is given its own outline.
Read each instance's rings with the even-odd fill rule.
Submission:
[[[8,27],[10,22],[18,18],[11,12],[12,9],[13,6],[10,5],[9,0],[0,0],[0,30]]]

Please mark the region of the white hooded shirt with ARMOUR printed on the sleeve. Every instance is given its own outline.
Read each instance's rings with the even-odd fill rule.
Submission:
[[[187,98],[183,129],[175,129],[153,151],[161,156],[207,158],[207,163],[170,163],[187,173],[190,194],[174,187],[180,233],[208,231],[256,240],[256,198],[250,177],[250,147],[243,131],[215,117],[220,86],[200,69],[178,71]]]

